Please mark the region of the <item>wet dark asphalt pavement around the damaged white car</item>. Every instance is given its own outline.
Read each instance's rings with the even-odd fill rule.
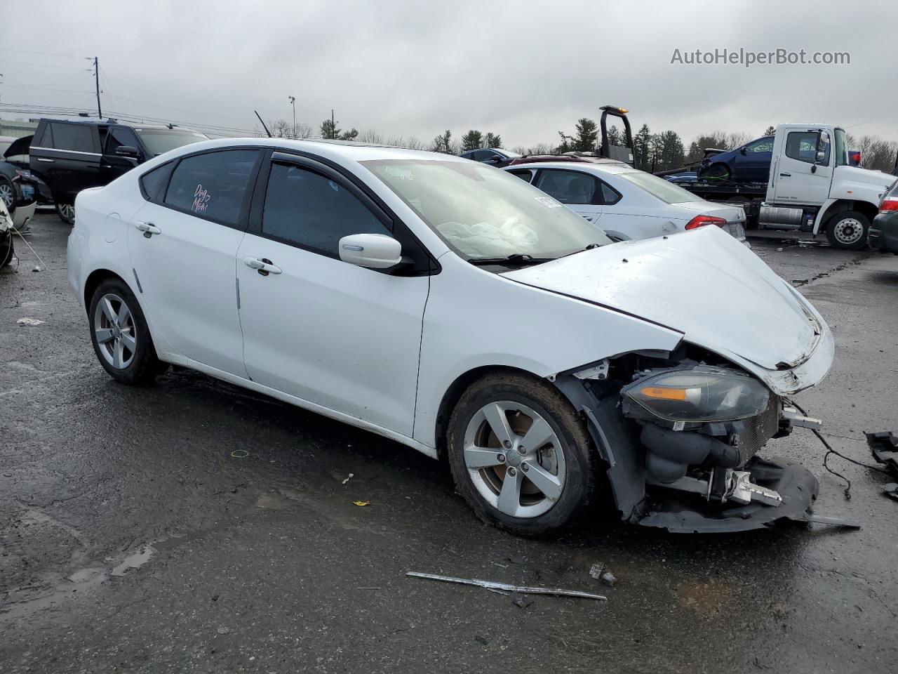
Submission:
[[[821,482],[815,510],[859,531],[676,536],[598,512],[558,540],[511,537],[473,517],[445,466],[389,440],[188,371],[113,382],[67,286],[68,232],[41,215],[30,241],[48,269],[32,272],[17,242],[20,267],[0,272],[4,674],[898,666],[898,503],[885,475],[831,458],[846,501],[810,433],[765,453],[802,460]],[[783,238],[752,243],[837,341],[830,376],[797,401],[870,461],[862,431],[898,431],[898,257]],[[684,293],[700,303],[701,288]],[[608,601],[518,607],[407,571]]]

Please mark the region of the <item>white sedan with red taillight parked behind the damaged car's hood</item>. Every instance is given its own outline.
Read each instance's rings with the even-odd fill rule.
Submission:
[[[745,241],[745,211],[701,200],[628,164],[546,162],[506,171],[559,200],[618,239],[647,239],[715,225]]]

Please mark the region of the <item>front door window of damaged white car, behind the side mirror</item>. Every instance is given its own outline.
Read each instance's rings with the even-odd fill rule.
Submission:
[[[392,232],[339,182],[300,166],[271,164],[262,234],[339,258],[343,236]]]

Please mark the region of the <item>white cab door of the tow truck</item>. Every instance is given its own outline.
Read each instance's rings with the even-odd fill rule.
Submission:
[[[774,198],[777,203],[820,206],[829,197],[832,152],[829,133],[819,129],[788,129],[776,169]],[[823,163],[816,164],[817,149]]]

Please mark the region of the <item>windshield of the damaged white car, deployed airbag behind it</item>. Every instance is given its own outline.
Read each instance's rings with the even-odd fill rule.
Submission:
[[[612,243],[545,192],[491,166],[426,159],[362,164],[465,260],[554,259]]]

